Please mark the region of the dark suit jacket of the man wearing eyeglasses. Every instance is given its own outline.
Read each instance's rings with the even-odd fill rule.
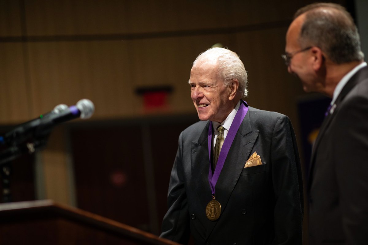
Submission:
[[[368,68],[347,82],[311,158],[310,244],[368,244]]]

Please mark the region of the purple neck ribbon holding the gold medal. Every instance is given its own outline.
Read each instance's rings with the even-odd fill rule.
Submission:
[[[247,106],[245,106],[247,105]],[[240,107],[238,111],[236,112],[236,115],[234,117],[233,122],[231,123],[229,132],[227,133],[227,136],[225,138],[224,144],[222,145],[219,159],[217,160],[217,165],[215,168],[215,172],[212,175],[212,163],[211,163],[211,152],[212,152],[212,122],[210,122],[209,129],[208,129],[208,155],[209,155],[209,173],[208,173],[208,182],[211,187],[212,196],[215,195],[215,185],[217,183],[217,180],[219,179],[222,167],[224,166],[224,162],[227,156],[227,153],[229,153],[229,149],[231,147],[231,144],[233,144],[235,135],[241,125],[241,122],[243,122],[243,119],[245,115],[248,112],[248,104],[245,101],[240,102]]]

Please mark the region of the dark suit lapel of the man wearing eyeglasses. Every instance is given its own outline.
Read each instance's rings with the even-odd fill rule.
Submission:
[[[341,90],[339,96],[336,99],[335,102],[335,109],[333,111],[332,114],[330,114],[328,112],[328,115],[326,116],[325,120],[323,120],[322,125],[321,125],[321,129],[319,130],[318,136],[316,138],[316,141],[313,145],[313,149],[312,149],[312,155],[311,155],[311,164],[309,165],[309,171],[308,171],[308,189],[311,186],[312,183],[312,172],[314,169],[314,162],[315,162],[315,157],[316,157],[316,151],[318,149],[319,143],[321,142],[321,139],[323,137],[323,135],[325,134],[326,130],[328,129],[328,126],[330,125],[332,119],[334,118],[334,116],[339,112],[339,106],[342,103],[342,101],[344,100],[344,98],[346,97],[346,95],[350,92],[351,89],[353,89],[353,87],[355,87],[359,82],[361,82],[362,80],[366,79],[368,77],[368,67],[365,66],[362,69],[360,69],[358,72],[356,72],[351,78],[350,80],[345,84],[344,88]]]

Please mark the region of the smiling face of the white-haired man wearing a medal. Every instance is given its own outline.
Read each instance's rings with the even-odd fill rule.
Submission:
[[[233,109],[229,87],[216,76],[216,64],[206,61],[192,67],[189,84],[191,98],[200,120],[223,122]]]

